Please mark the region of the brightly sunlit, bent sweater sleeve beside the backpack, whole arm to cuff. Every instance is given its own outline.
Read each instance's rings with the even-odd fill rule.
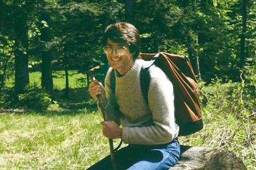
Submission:
[[[164,144],[178,135],[174,116],[174,90],[160,68],[150,73],[148,104],[153,123],[143,127],[124,127],[123,141],[130,144]]]

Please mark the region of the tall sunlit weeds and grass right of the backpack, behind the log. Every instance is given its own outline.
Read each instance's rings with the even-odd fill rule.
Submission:
[[[218,78],[208,86],[200,82],[204,129],[179,138],[180,142],[232,151],[243,160],[247,169],[253,170],[256,166],[256,84],[245,84],[250,77],[254,79],[247,72],[241,74],[241,83],[222,84]]]

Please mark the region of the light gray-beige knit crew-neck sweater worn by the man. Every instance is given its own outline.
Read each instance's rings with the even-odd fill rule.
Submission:
[[[150,73],[148,103],[140,86],[140,70],[144,60],[137,59],[122,77],[116,76],[115,97],[110,86],[109,68],[105,78],[108,104],[104,108],[107,119],[123,127],[122,139],[127,144],[164,144],[178,136],[174,117],[172,83],[164,72],[155,67]],[[116,104],[117,103],[117,104]]]

